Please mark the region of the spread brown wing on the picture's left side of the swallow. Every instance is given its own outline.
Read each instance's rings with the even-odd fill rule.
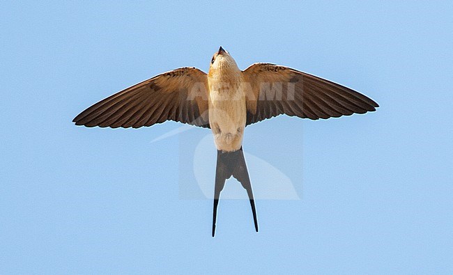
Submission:
[[[208,77],[179,68],[126,88],[82,111],[72,120],[86,127],[142,127],[166,120],[209,127]]]

